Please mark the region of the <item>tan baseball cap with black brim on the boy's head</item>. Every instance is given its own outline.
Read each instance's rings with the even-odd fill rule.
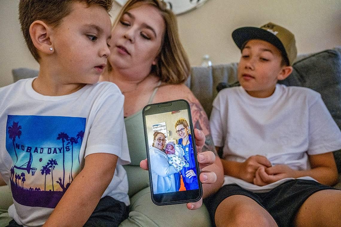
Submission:
[[[296,59],[297,49],[294,34],[271,22],[260,28],[238,28],[232,32],[232,38],[240,50],[251,39],[261,39],[272,44],[282,54],[282,65],[292,65]]]

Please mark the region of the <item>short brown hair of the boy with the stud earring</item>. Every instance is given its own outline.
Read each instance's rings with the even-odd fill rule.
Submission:
[[[99,5],[107,12],[113,5],[113,0],[20,0],[19,21],[28,49],[33,58],[39,62],[40,56],[33,45],[30,36],[30,26],[36,20],[44,21],[47,25],[56,27],[60,21],[72,11],[74,2],[84,2],[88,6]]]

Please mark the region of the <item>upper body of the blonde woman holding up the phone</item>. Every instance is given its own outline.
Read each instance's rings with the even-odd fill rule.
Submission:
[[[195,137],[202,143],[198,161],[205,170],[200,174],[204,197],[216,192],[223,182],[223,168],[215,152],[209,122],[201,104],[184,84],[190,75],[190,64],[180,43],[177,21],[172,11],[160,0],[130,0],[121,9],[109,42],[111,54],[102,80],[111,81],[121,89],[124,99],[125,127],[132,162],[145,159],[142,108],[148,103],[186,99],[191,104],[196,128]],[[169,94],[172,90],[172,94]],[[198,134],[199,133],[199,134]],[[203,136],[204,135],[204,136]],[[199,143],[200,144],[200,143]],[[146,161],[142,166],[146,168]],[[217,180],[218,179],[218,180]],[[189,203],[197,209],[202,200]]]

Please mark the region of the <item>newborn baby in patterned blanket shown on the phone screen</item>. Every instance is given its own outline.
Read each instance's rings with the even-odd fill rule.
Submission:
[[[168,156],[169,165],[173,165],[178,171],[180,171],[182,167],[190,166],[186,159],[183,158],[185,152],[180,145],[169,142],[166,144],[165,151]]]

